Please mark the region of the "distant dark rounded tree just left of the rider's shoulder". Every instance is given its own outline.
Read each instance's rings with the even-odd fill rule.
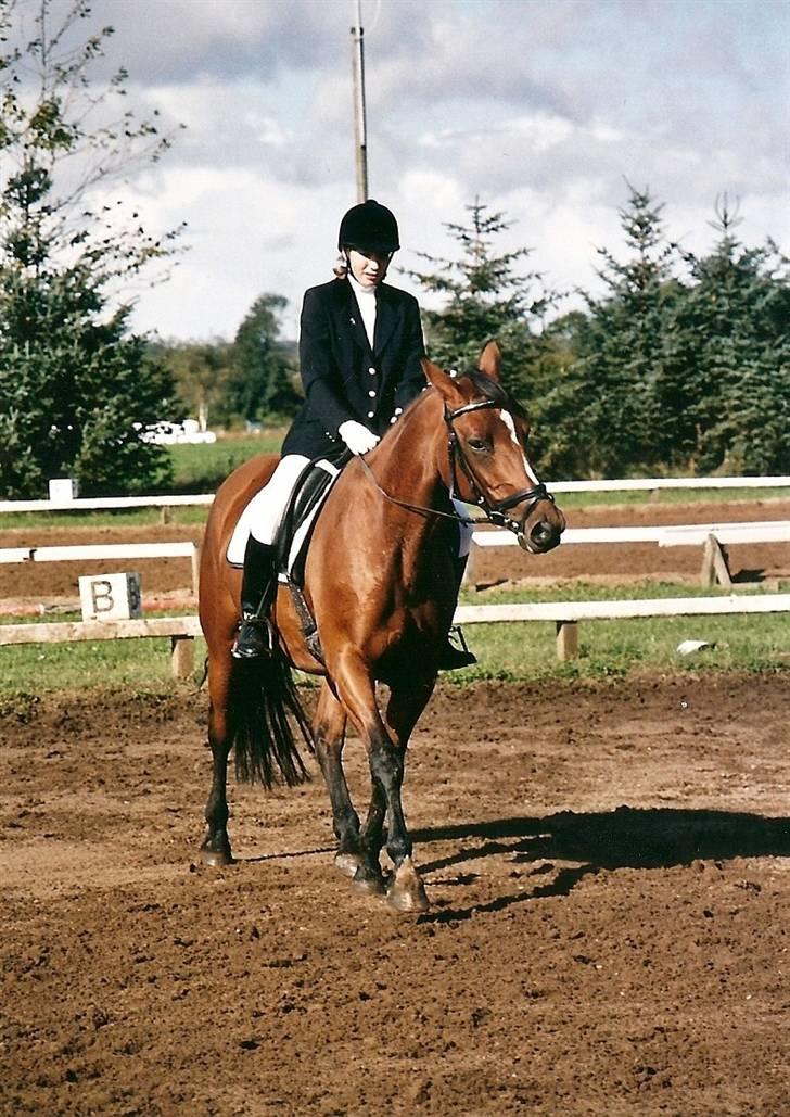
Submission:
[[[279,421],[302,402],[289,346],[279,336],[286,306],[282,295],[260,295],[236,333],[227,402],[242,419]]]

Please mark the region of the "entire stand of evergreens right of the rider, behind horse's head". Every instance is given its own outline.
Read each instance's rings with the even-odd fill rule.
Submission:
[[[628,191],[625,250],[599,249],[602,293],[548,323],[554,297],[516,270],[529,250],[497,256],[508,222],[468,207],[468,227],[447,227],[461,258],[411,273],[447,299],[423,312],[431,355],[465,366],[497,337],[554,477],[790,471],[788,260],[770,240],[741,245],[726,199],[712,251],[684,251],[650,191]]]

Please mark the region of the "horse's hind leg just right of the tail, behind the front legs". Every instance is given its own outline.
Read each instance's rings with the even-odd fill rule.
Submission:
[[[351,802],[343,772],[345,723],[345,709],[324,681],[313,718],[315,755],[332,804],[332,824],[337,839],[335,865],[344,876],[353,877],[362,863],[362,849],[360,819]]]

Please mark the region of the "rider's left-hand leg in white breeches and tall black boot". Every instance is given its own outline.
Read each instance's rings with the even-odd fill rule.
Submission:
[[[291,491],[308,460],[301,454],[283,458],[245,510],[250,535],[241,579],[241,623],[230,649],[236,659],[257,659],[272,651],[268,612],[277,593],[275,540]]]

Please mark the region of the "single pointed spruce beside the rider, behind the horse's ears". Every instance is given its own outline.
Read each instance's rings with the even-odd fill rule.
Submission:
[[[463,371],[477,367],[484,345],[495,338],[505,354],[506,386],[529,402],[533,394],[529,369],[536,355],[531,324],[542,323],[556,296],[545,289],[540,273],[518,271],[532,249],[495,254],[495,238],[513,222],[503,213],[489,213],[478,199],[466,209],[468,225],[445,226],[460,245],[460,258],[419,252],[431,270],[408,273],[425,290],[446,299],[441,309],[422,308],[426,344],[438,364]]]

